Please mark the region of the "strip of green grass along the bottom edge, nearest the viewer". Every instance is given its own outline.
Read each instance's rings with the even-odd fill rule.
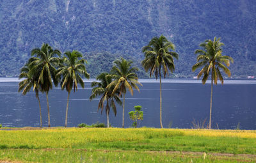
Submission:
[[[96,150],[0,150],[0,160],[22,162],[254,162],[243,156],[212,156],[203,153]]]

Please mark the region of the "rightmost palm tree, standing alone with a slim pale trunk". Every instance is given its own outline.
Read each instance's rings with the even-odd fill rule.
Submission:
[[[228,70],[227,66],[230,66],[230,61],[233,63],[233,58],[229,56],[222,56],[222,49],[221,47],[224,45],[224,43],[220,42],[220,38],[216,39],[214,37],[214,40],[205,40],[205,42],[200,43],[200,47],[202,49],[197,49],[195,51],[195,54],[198,54],[196,58],[196,64],[192,66],[192,71],[194,72],[197,68],[200,68],[203,66],[202,70],[197,75],[197,78],[199,79],[202,74],[204,74],[204,77],[202,79],[202,83],[205,84],[207,81],[209,75],[211,75],[211,104],[210,104],[210,120],[209,120],[209,128],[211,129],[211,119],[212,119],[212,86],[213,81],[214,84],[217,84],[218,79],[220,79],[221,84],[223,84],[223,77],[221,75],[221,71],[225,72],[225,74],[228,75],[228,77],[231,76],[230,70]],[[227,66],[225,66],[225,65]]]

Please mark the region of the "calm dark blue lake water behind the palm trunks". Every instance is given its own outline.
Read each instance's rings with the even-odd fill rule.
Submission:
[[[127,93],[125,100],[125,127],[130,127],[128,112],[134,105],[142,105],[144,120],[141,126],[160,127],[159,123],[159,81],[141,80],[140,93]],[[39,107],[35,93],[23,96],[17,92],[17,79],[0,78],[0,123],[5,127],[38,127]],[[86,81],[85,89],[70,93],[68,127],[79,123],[106,123],[106,113],[97,112],[99,98],[88,99],[92,89]],[[256,130],[256,81],[225,81],[214,85],[212,103],[212,125],[221,129],[236,128]],[[191,128],[192,121],[209,120],[210,93],[209,83],[202,85],[196,80],[163,81],[163,125],[172,128]],[[47,126],[47,105],[45,94],[40,94],[43,125]],[[54,88],[49,92],[51,125],[63,126],[67,105],[67,91]],[[114,127],[122,126],[122,107],[118,106],[116,117],[110,112],[109,121]]]

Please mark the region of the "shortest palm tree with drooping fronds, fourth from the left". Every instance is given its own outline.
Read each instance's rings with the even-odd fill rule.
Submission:
[[[90,100],[98,97],[99,95],[102,95],[99,101],[98,111],[101,108],[101,114],[102,114],[104,102],[106,101],[107,104],[105,106],[105,111],[107,114],[107,123],[109,127],[110,108],[113,109],[113,112],[115,113],[115,116],[116,116],[115,101],[120,105],[122,105],[122,102],[118,97],[119,91],[117,90],[114,94],[112,94],[114,86],[108,87],[108,85],[112,82],[111,75],[109,75],[108,73],[102,73],[98,75],[96,79],[100,82],[97,82],[97,81],[92,82],[92,87],[94,88],[92,89],[92,95],[90,96]]]

